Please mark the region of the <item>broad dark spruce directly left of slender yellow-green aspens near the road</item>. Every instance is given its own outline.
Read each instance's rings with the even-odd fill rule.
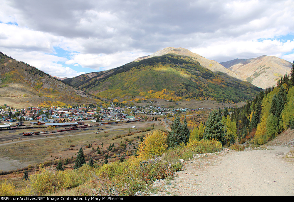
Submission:
[[[218,110],[213,110],[209,113],[207,122],[205,124],[205,130],[203,133],[203,139],[215,139],[225,144],[225,138],[223,136],[222,119]]]

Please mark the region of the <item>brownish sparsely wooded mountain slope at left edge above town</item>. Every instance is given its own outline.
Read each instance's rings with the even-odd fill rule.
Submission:
[[[0,105],[27,107],[53,102],[72,104],[96,101],[84,91],[0,52]]]

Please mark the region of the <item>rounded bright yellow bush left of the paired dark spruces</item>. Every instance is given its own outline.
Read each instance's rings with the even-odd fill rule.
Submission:
[[[143,142],[139,143],[139,157],[152,158],[155,155],[162,155],[167,149],[167,135],[159,130],[148,133]]]

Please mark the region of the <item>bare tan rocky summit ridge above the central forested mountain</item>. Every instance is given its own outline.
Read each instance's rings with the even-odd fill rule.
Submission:
[[[199,62],[202,67],[206,67],[207,69],[211,70],[212,72],[223,72],[225,74],[228,74],[231,77],[235,77],[239,80],[244,80],[238,74],[235,74],[234,72],[228,70],[227,68],[223,67],[218,62],[216,62],[214,60],[206,59],[205,57],[202,57],[201,55],[193,53],[185,48],[167,47],[167,48],[164,48],[160,51],[157,51],[151,55],[139,57],[139,58],[135,59],[134,61],[141,61],[143,59],[148,59],[148,58],[156,57],[156,56],[162,56],[162,55],[170,54],[170,53],[191,57],[191,59],[193,59],[194,61]]]

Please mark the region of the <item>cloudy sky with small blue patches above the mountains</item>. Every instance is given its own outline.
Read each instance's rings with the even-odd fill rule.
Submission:
[[[165,47],[217,62],[294,59],[293,0],[0,0],[0,51],[58,77]]]

